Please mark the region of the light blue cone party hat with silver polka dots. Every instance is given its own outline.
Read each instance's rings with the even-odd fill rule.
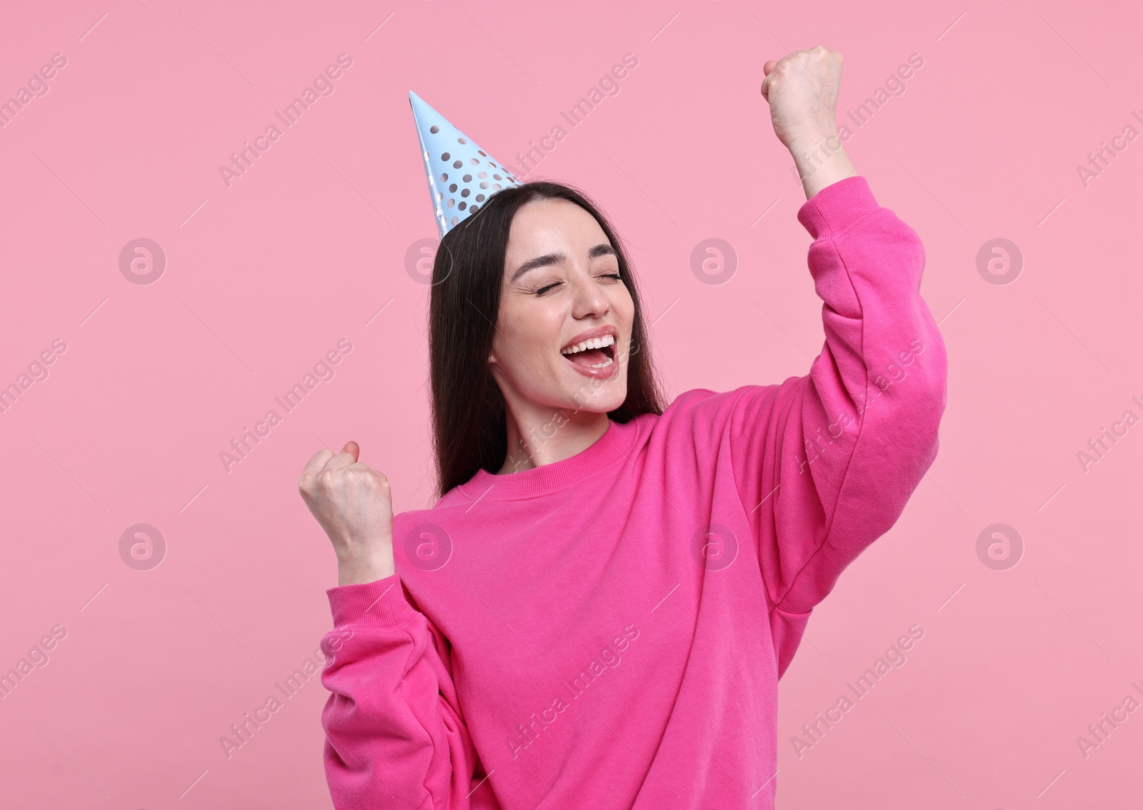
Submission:
[[[413,90],[409,90],[409,104],[425,161],[437,227],[443,238],[458,223],[480,210],[491,194],[520,184],[472,138],[449,123]]]

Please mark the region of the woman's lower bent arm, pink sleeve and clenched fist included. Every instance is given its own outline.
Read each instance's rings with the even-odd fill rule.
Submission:
[[[337,810],[499,810],[453,684],[448,640],[414,610],[393,561],[389,481],[357,442],[319,450],[298,491],[337,554],[321,682],[325,765]],[[477,784],[473,789],[473,783]]]

